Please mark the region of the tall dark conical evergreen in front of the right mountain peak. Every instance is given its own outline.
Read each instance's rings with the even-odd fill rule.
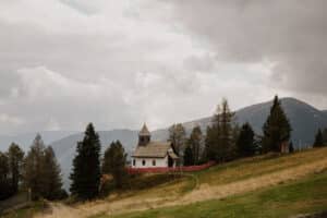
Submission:
[[[270,114],[263,126],[263,149],[267,152],[280,152],[281,144],[291,137],[291,125],[281,107],[278,96],[275,97]]]

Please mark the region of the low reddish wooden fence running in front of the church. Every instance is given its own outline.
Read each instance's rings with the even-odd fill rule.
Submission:
[[[187,166],[187,167],[156,167],[156,168],[128,168],[129,174],[138,174],[138,173],[166,173],[166,172],[195,172],[199,170],[207,169],[214,166],[214,161],[209,161],[204,165],[198,166]]]

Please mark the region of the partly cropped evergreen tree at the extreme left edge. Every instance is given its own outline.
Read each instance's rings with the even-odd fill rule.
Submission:
[[[9,172],[8,156],[0,152],[0,201],[8,198],[12,194]]]

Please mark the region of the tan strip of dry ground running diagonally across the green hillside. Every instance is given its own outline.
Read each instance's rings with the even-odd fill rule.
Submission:
[[[141,199],[140,197],[134,195],[117,201],[98,201],[87,203],[76,207],[69,207],[62,204],[51,204],[52,214],[37,216],[37,218],[86,218],[100,213],[113,215],[126,211],[159,208],[165,206],[185,205],[206,199],[225,198],[230,195],[277,185],[290,180],[296,180],[313,172],[320,172],[325,169],[327,169],[327,159],[311,164],[304,164],[291,169],[286,169],[278,172],[250,178],[223,185],[210,186],[208,184],[202,184],[196,190],[180,197],[167,196],[156,198],[148,197]]]

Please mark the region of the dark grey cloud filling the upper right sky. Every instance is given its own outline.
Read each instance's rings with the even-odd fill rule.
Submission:
[[[327,94],[327,2],[169,1],[174,19],[219,61],[276,63],[271,86]],[[279,80],[278,80],[279,78]],[[282,78],[282,80],[281,80]]]

